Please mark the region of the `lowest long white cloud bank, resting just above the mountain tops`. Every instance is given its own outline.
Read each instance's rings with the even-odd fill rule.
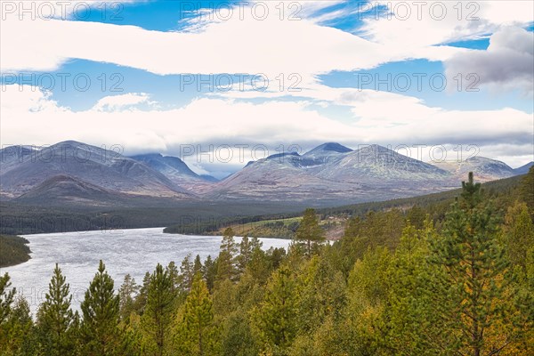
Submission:
[[[183,144],[201,144],[203,150],[210,144],[264,144],[273,150],[273,145],[279,144],[309,146],[331,141],[352,147],[360,143],[473,144],[481,148],[481,156],[490,156],[489,152],[490,157],[497,155],[519,164],[517,157],[525,156],[525,147],[531,148],[534,130],[531,115],[516,109],[445,110],[428,107],[417,98],[370,90],[322,87],[312,92],[327,97],[331,104],[352,108],[353,122],[341,123],[310,109],[311,101],[254,104],[204,98],[180,109],[109,112],[95,107],[74,112],[28,86],[21,91],[19,85],[5,88],[3,143],[39,145],[74,139],[120,144],[129,154],[178,154]]]

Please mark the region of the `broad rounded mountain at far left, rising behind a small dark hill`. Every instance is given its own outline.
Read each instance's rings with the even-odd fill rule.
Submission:
[[[115,151],[82,142],[60,142],[41,151],[29,152],[20,150],[19,146],[7,147],[0,151],[0,156],[0,190],[3,198],[20,197],[56,176],[69,176],[79,182],[93,184],[96,190],[136,196],[194,198],[150,166],[125,158]],[[65,193],[69,193],[69,189],[73,188],[71,183],[67,184],[65,180],[51,181],[40,190],[53,187],[56,190],[54,194],[59,196],[61,187],[68,188]],[[81,189],[81,183],[77,184]]]

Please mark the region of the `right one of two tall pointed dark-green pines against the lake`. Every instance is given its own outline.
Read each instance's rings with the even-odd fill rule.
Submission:
[[[122,332],[119,298],[115,295],[113,279],[102,261],[94,275],[80,308],[83,314],[82,335],[85,341],[84,354],[91,356],[120,355]]]

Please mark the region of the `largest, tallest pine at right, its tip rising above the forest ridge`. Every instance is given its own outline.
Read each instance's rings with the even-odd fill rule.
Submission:
[[[430,261],[442,271],[432,286],[438,301],[434,312],[448,325],[449,340],[441,345],[449,352],[480,356],[488,348],[485,333],[506,311],[508,265],[498,245],[494,214],[481,184],[469,173],[447,215],[443,237],[431,241]],[[509,343],[503,340],[501,346]]]

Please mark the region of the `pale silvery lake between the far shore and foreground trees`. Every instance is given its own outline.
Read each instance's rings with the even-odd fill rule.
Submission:
[[[32,251],[31,259],[12,267],[1,269],[11,276],[16,287],[31,305],[32,312],[44,300],[48,282],[52,278],[55,263],[67,277],[73,294],[73,306],[84,299],[85,289],[93,279],[100,260],[106,264],[109,275],[115,280],[116,290],[126,274],[138,284],[146,271],[153,271],[157,263],[171,261],[180,266],[182,259],[191,254],[200,255],[204,262],[207,255],[218,255],[221,237],[186,236],[163,233],[163,228],[133,229],[123,231],[84,231],[24,235]],[[287,247],[287,239],[261,239],[263,248]],[[240,238],[236,238],[239,242]]]

